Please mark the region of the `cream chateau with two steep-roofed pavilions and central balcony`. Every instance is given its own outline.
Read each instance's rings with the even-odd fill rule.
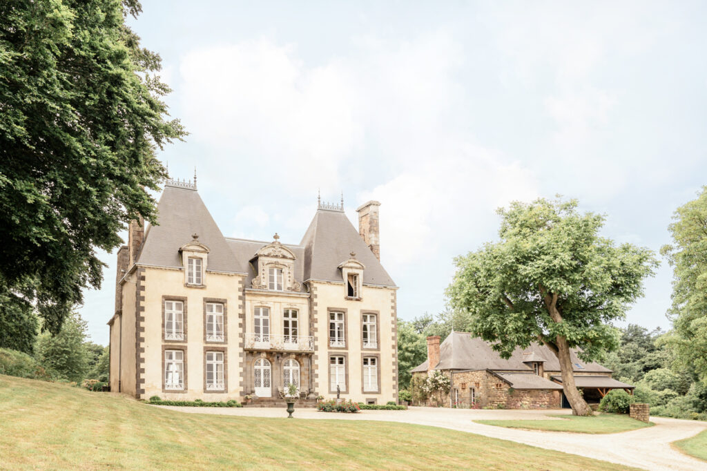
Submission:
[[[378,208],[319,202],[299,244],[224,237],[196,181],[169,180],[158,224],[117,253],[110,388],[170,400],[397,401],[397,286]]]

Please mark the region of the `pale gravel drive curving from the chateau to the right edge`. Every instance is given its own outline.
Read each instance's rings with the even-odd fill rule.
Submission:
[[[286,417],[281,409],[165,407],[180,412],[236,415],[240,417]],[[527,445],[558,450],[646,470],[707,470],[707,463],[691,458],[670,446],[670,442],[689,438],[707,429],[707,422],[651,417],[653,427],[619,434],[571,434],[565,432],[506,429],[476,424],[474,420],[551,419],[545,414],[571,414],[568,409],[542,410],[469,410],[410,407],[407,411],[363,410],[358,414],[326,414],[315,409],[296,409],[300,419],[380,420],[443,427],[474,434],[502,438]],[[560,419],[558,419],[560,420]]]

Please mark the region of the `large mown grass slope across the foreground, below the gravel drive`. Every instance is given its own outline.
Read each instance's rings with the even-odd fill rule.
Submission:
[[[428,426],[182,414],[11,376],[0,376],[0,418],[0,467],[11,469],[627,469]]]

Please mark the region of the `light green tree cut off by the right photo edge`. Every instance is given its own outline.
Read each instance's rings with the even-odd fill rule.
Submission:
[[[669,311],[674,330],[667,342],[682,366],[694,368],[707,385],[707,187],[673,219],[673,243],[661,249],[674,269]]]

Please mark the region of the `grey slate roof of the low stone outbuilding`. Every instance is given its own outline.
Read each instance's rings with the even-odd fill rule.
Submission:
[[[509,359],[502,359],[491,344],[467,332],[452,332],[440,344],[440,361],[436,370],[493,370],[493,371],[533,371],[524,363],[524,353],[532,354],[532,361],[544,361],[545,371],[560,371],[560,363],[552,351],[544,345],[532,344],[527,349],[517,348]],[[530,356],[530,355],[529,355]],[[581,361],[576,352],[571,352],[574,371],[587,373],[610,373],[609,368],[597,363]],[[424,367],[423,367],[424,366]],[[411,370],[413,373],[427,371],[427,361]]]

